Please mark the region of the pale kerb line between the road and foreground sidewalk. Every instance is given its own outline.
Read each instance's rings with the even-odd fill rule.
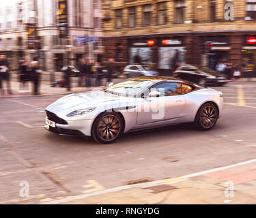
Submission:
[[[248,161],[243,161],[243,162],[240,162],[240,163],[231,164],[229,166],[223,166],[221,168],[214,168],[212,170],[205,170],[205,171],[196,172],[196,173],[193,173],[193,174],[188,174],[186,176],[180,176],[180,178],[192,178],[192,177],[195,177],[195,176],[201,176],[203,174],[208,174],[210,172],[216,172],[216,171],[219,171],[219,170],[225,170],[225,169],[229,169],[229,168],[234,168],[236,166],[242,166],[242,165],[245,165],[245,164],[248,164],[248,163],[255,163],[255,162],[256,162],[256,159],[251,159],[251,160],[248,160]],[[177,183],[178,182],[179,181],[177,181]],[[104,190],[101,190],[101,191],[96,191],[96,192],[93,192],[93,193],[85,193],[85,194],[80,195],[80,196],[73,196],[73,197],[70,197],[70,198],[63,198],[61,200],[53,200],[51,202],[44,202],[44,203],[41,203],[41,204],[61,204],[61,203],[65,203],[65,202],[70,202],[72,200],[79,200],[79,199],[88,198],[88,197],[91,197],[91,196],[102,195],[102,194],[105,194],[105,193],[111,193],[111,192],[115,192],[115,191],[122,191],[122,190],[125,190],[125,189],[142,188],[142,187],[145,188],[145,187],[152,187],[154,185],[162,185],[162,184],[168,184],[168,183],[161,180],[161,181],[153,181],[153,182],[149,182],[149,183],[124,185],[124,186],[115,187],[115,188],[112,188],[112,189],[104,189]]]

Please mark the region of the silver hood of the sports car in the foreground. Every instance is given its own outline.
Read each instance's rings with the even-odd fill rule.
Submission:
[[[113,95],[104,91],[85,91],[82,93],[74,93],[61,97],[53,104],[49,105],[46,110],[51,112],[72,112],[84,108],[97,107],[106,104],[113,104],[112,102],[134,102],[133,97],[124,97]]]

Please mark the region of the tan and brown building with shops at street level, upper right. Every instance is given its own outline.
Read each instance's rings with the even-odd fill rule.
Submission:
[[[112,0],[103,14],[105,60],[120,69],[137,55],[162,74],[175,62],[256,62],[256,0]]]

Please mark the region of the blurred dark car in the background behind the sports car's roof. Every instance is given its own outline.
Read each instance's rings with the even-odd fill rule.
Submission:
[[[224,85],[228,82],[225,74],[215,72],[208,67],[199,67],[193,65],[185,65],[178,67],[173,76],[176,78],[181,78],[189,82],[196,82],[201,85]]]

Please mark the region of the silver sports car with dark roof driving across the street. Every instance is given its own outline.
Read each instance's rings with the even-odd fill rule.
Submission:
[[[130,78],[105,90],[74,93],[46,108],[45,129],[56,134],[92,136],[102,143],[139,129],[177,123],[214,127],[223,93],[170,77]]]

